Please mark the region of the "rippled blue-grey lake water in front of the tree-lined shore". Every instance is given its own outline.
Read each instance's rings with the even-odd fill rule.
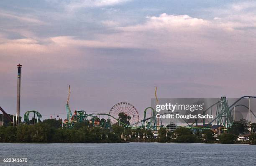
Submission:
[[[28,158],[4,163],[4,158]],[[256,166],[256,146],[202,143],[0,143],[0,165]]]

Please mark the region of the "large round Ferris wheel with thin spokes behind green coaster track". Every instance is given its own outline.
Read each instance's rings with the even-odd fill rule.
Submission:
[[[138,115],[138,110],[136,107],[134,107],[132,104],[128,102],[119,102],[118,104],[114,105],[109,114],[118,119],[118,114],[119,113],[125,113],[125,115],[130,116],[130,124],[133,123],[138,123],[139,121],[139,115]],[[117,123],[118,121],[115,120],[113,117],[110,117],[111,123]]]

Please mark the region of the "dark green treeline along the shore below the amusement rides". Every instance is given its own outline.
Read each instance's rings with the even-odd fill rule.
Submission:
[[[239,131],[238,131],[239,130]],[[0,142],[21,143],[118,143],[118,142],[177,142],[177,143],[237,143],[237,133],[241,132],[240,123],[235,123],[230,133],[223,133],[218,140],[211,130],[193,134],[187,128],[177,128],[167,132],[160,128],[158,137],[154,138],[151,130],[124,128],[112,125],[110,129],[93,127],[87,122],[74,123],[73,128],[62,128],[60,120],[46,119],[35,125],[21,123],[18,127],[12,125],[0,127]],[[122,139],[124,138],[124,139]],[[252,133],[248,143],[256,144],[256,133]]]

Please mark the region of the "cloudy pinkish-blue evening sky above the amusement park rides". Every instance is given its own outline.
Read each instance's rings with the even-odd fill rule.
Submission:
[[[0,105],[43,118],[71,110],[140,115],[159,98],[256,92],[256,2],[237,0],[1,0]],[[140,116],[142,119],[142,116]]]

